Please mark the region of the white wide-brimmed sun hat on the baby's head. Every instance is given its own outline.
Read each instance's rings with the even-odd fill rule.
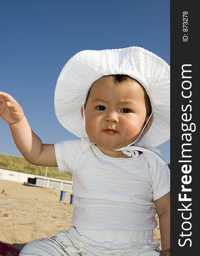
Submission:
[[[139,81],[151,102],[154,120],[137,145],[156,147],[169,140],[170,66],[141,47],[83,50],[70,58],[55,87],[55,113],[61,125],[78,137],[88,138],[80,109],[97,79],[116,74]]]

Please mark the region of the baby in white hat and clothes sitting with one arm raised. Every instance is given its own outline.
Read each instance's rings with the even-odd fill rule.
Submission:
[[[168,64],[140,47],[78,52],[58,78],[55,113],[81,139],[55,145],[0,92],[0,115],[26,160],[73,175],[73,226],[20,256],[170,256],[170,171],[154,148],[169,139],[169,81]]]

